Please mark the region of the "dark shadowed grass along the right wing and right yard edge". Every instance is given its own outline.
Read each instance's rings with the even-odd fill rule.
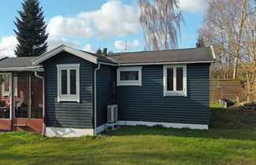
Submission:
[[[227,138],[256,141],[256,112],[244,112],[239,108],[212,107],[209,130],[174,129],[162,126],[121,127],[107,131],[109,136],[160,135],[185,138]]]

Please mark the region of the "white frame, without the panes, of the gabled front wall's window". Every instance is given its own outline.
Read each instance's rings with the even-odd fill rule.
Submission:
[[[57,64],[58,76],[58,102],[77,101],[80,102],[80,64]],[[76,94],[70,94],[70,70],[76,70]],[[67,70],[67,94],[62,94],[61,71]]]

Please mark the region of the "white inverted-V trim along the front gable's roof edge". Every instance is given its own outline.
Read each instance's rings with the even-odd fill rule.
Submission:
[[[73,55],[77,56],[77,57],[81,57],[87,61],[90,61],[94,64],[97,64],[97,57],[92,56],[89,53],[85,53],[81,50],[77,50],[77,49],[73,49],[70,46],[58,46],[55,49],[52,49],[51,51],[47,52],[47,53],[43,53],[40,57],[36,57],[32,60],[32,64],[40,64],[43,61],[46,61],[47,59],[54,57],[56,54],[62,52],[62,51],[66,51],[68,53],[72,53]]]

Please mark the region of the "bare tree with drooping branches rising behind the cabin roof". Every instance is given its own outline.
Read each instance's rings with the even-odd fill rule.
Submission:
[[[173,49],[178,47],[180,23],[183,16],[179,0],[138,0],[140,22],[144,31],[146,49]]]

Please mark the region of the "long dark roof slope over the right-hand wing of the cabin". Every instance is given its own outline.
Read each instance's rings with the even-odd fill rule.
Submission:
[[[119,65],[127,64],[181,64],[181,63],[210,63],[215,55],[212,47],[169,49],[142,51],[131,53],[111,53],[107,55]]]

